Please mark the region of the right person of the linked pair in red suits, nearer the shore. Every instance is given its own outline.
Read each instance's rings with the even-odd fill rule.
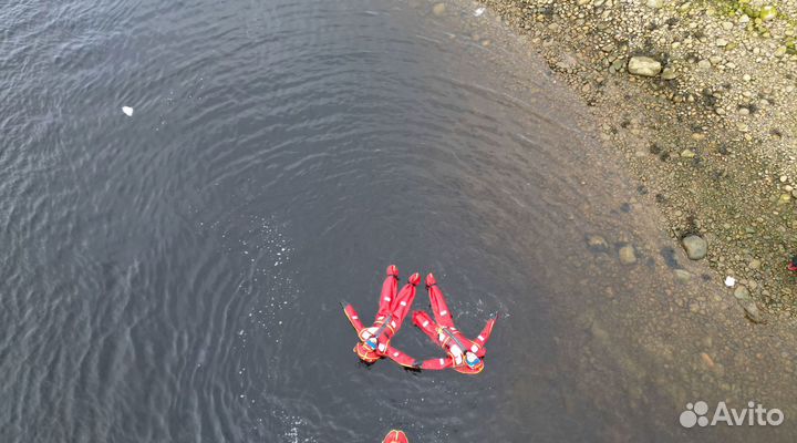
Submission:
[[[432,320],[425,311],[413,312],[413,323],[421,328],[437,346],[448,354],[445,359],[431,359],[421,364],[421,369],[442,370],[453,368],[455,371],[465,374],[477,374],[484,370],[482,360],[487,353],[487,340],[493,332],[498,316],[487,320],[487,326],[482,330],[476,340],[468,340],[454,326],[454,318],[445,301],[443,291],[437,287],[437,280],[429,274],[426,276],[426,289],[428,289],[429,303],[435,319]]]

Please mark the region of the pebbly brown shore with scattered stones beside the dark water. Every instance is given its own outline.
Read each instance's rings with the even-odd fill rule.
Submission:
[[[751,320],[797,316],[786,269],[797,251],[796,2],[480,3],[591,106],[640,198],[690,258],[733,282]]]

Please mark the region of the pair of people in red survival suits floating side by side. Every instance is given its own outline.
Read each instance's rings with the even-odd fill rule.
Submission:
[[[476,339],[470,340],[454,326],[454,317],[446,303],[443,291],[437,287],[434,275],[426,276],[426,290],[434,319],[425,311],[413,312],[413,323],[428,336],[435,344],[445,352],[445,358],[435,358],[425,361],[415,360],[406,353],[391,346],[391,339],[398,332],[404,319],[410,313],[415,299],[416,286],[421,276],[415,272],[401,290],[398,289],[398,269],[391,265],[387,276],[382,284],[379,311],[371,327],[365,327],[360,315],[348,302],[341,302],[343,311],[354,327],[360,342],[354,347],[354,353],[363,362],[371,364],[387,358],[407,369],[438,371],[452,368],[465,374],[477,374],[484,370],[484,357],[487,353],[489,340],[497,316],[487,320],[487,324]]]

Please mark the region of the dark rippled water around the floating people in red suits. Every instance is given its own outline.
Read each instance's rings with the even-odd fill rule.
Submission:
[[[683,440],[683,395],[625,385],[656,369],[607,326],[646,290],[609,257],[663,241],[654,215],[474,9],[3,8],[2,441]],[[434,271],[466,332],[505,316],[482,375],[358,362],[338,301],[372,316],[391,262]],[[414,329],[394,344],[439,354]]]

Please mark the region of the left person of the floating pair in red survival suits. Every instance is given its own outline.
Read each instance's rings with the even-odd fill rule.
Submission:
[[[408,282],[396,293],[398,269],[394,265],[389,266],[387,277],[382,284],[376,319],[370,328],[363,326],[360,316],[351,303],[341,301],[343,312],[345,312],[360,338],[360,342],[354,347],[354,352],[360,360],[370,364],[386,357],[405,368],[417,369],[421,365],[421,362],[416,362],[415,359],[390,344],[391,339],[398,332],[402,322],[410,313],[410,307],[415,299],[415,287],[418,282],[421,282],[421,276],[415,272],[410,276]]]

